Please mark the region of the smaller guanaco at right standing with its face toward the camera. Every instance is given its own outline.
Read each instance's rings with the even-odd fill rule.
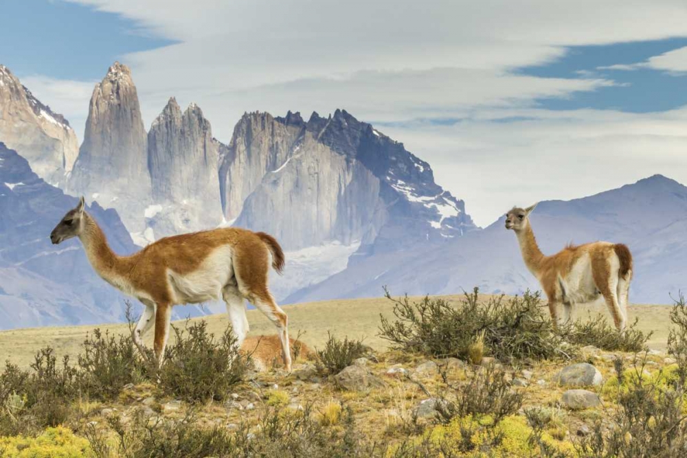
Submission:
[[[559,321],[558,307],[563,304],[563,323],[570,321],[573,304],[594,301],[602,295],[616,328],[627,324],[627,301],[632,279],[632,255],[624,244],[592,242],[565,247],[545,256],[534,239],[530,213],[537,204],[525,209],[513,207],[506,214],[506,229],[513,229],[520,244],[525,265],[548,298],[554,324]]]

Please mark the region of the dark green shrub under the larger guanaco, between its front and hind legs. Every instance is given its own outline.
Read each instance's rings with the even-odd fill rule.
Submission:
[[[216,341],[205,321],[187,323],[185,330],[172,328],[177,341],[165,352],[161,388],[191,402],[223,399],[247,371],[247,359],[238,351],[232,331],[227,328]]]

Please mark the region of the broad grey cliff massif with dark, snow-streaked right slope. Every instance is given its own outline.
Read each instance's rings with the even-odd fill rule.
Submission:
[[[246,114],[228,149],[220,166],[225,218],[273,233],[287,249],[337,240],[367,253],[396,249],[401,236],[437,242],[476,228],[428,163],[345,110],[308,122],[299,113]],[[380,243],[383,233],[396,240]]]

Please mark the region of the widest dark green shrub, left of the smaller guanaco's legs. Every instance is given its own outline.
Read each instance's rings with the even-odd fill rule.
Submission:
[[[381,317],[381,337],[392,346],[427,356],[469,359],[469,347],[484,333],[484,352],[503,361],[570,358],[563,339],[554,332],[539,293],[492,297],[478,301],[478,289],[465,293],[458,306],[440,298],[411,302],[407,296],[394,302],[395,321]]]

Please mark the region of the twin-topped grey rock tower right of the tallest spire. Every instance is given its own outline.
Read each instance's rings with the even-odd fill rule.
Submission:
[[[145,216],[151,236],[221,224],[218,157],[223,148],[199,106],[190,104],[182,113],[170,98],[148,132],[153,205]]]

